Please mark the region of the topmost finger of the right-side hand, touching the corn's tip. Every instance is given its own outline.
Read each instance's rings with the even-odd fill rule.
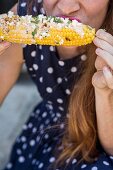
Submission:
[[[111,46],[113,46],[113,36],[106,32],[105,30],[99,29],[96,32],[96,37],[108,42]]]

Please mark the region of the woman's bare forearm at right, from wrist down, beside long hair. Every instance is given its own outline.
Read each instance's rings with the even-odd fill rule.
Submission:
[[[104,150],[113,155],[113,93],[95,92],[98,137]]]

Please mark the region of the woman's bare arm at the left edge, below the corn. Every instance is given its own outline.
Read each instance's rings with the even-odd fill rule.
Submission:
[[[12,44],[0,55],[0,103],[18,79],[23,63],[22,47]]]

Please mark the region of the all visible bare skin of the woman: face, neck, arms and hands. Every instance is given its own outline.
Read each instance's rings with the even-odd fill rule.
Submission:
[[[84,24],[98,30],[106,16],[109,0],[43,0],[43,2],[47,15],[74,16]],[[9,47],[6,44],[0,43],[0,54]],[[113,36],[104,30],[98,30],[94,44],[97,47],[95,61],[97,71],[92,77],[92,84],[95,90],[98,136],[104,150],[113,155],[113,75],[111,73],[113,70]],[[17,53],[17,48],[19,47],[12,45],[8,48],[9,51],[0,55],[0,89],[2,89],[0,102],[15,83],[23,63],[22,51]],[[13,50],[19,55],[14,55]],[[85,51],[85,47],[60,46],[57,50],[61,58],[67,59]],[[4,77],[7,77],[7,83]]]

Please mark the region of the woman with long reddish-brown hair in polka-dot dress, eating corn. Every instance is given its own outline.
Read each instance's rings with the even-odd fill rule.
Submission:
[[[19,15],[40,12],[73,16],[98,31],[93,44],[84,47],[24,47],[28,72],[43,101],[23,126],[5,170],[112,170],[113,1],[19,1]],[[4,55],[1,101],[24,61],[22,55]]]

